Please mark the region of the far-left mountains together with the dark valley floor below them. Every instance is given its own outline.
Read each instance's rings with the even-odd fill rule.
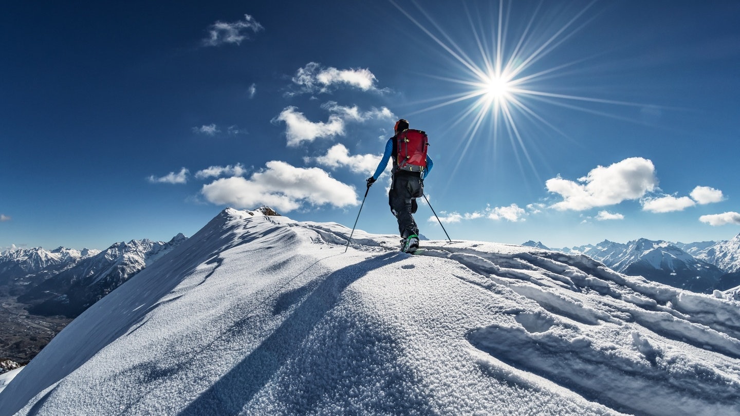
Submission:
[[[60,247],[0,255],[0,359],[27,363],[71,318],[184,241],[132,240],[104,251]],[[1,370],[0,370],[1,372]]]

